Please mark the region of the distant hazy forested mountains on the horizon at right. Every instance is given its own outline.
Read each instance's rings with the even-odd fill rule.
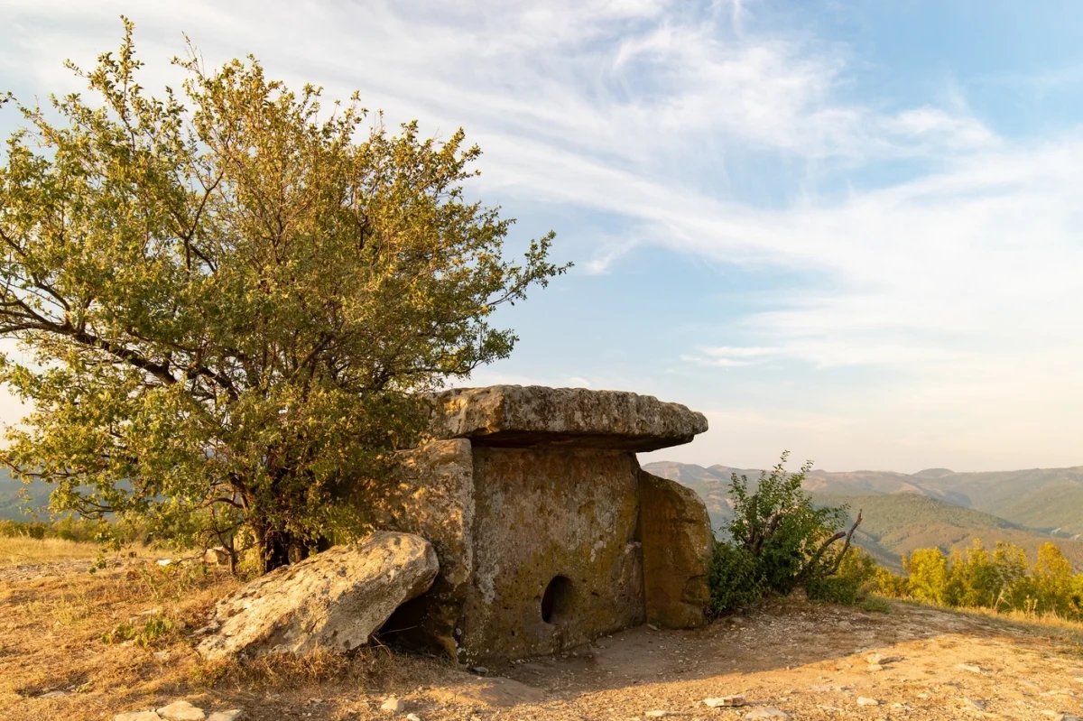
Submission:
[[[733,514],[730,474],[747,475],[753,485],[759,477],[758,470],[673,461],[643,469],[695,490],[716,529]],[[1083,568],[1083,542],[1078,536],[1083,533],[1083,468],[999,473],[928,469],[914,474],[815,470],[808,474],[805,489],[817,503],[848,503],[853,515],[863,509],[854,538],[888,567],[898,568],[899,556],[917,548],[939,547],[947,552],[978,538],[987,547],[997,540],[1013,542],[1031,559],[1039,546],[1053,540],[1077,568]]]

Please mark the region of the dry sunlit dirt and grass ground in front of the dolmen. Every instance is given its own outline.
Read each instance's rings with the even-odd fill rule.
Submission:
[[[191,651],[192,630],[236,581],[145,560],[93,575],[84,565],[0,568],[0,719],[110,719],[178,698],[208,712],[243,708],[251,721],[706,721],[767,708],[798,720],[1083,715],[1080,628],[909,604],[865,613],[778,601],[708,628],[640,627],[484,674],[377,648],[344,665],[246,676],[207,668]],[[148,615],[173,629],[134,643],[103,638]],[[703,703],[734,694],[744,707]],[[400,712],[380,710],[389,695]]]

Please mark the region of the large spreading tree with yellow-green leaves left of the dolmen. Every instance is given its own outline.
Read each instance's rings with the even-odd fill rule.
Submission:
[[[123,24],[68,63],[97,100],[18,106],[0,167],[0,336],[30,356],[0,380],[32,402],[0,460],[57,510],[249,529],[272,568],[362,528],[336,499],[416,437],[418,392],[506,357],[494,309],[567,266],[552,233],[504,259],[461,129],[393,135],[356,94],[323,107],[191,47],[152,96]]]

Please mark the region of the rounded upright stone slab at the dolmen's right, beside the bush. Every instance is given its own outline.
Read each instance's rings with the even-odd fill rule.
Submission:
[[[714,534],[707,507],[691,488],[639,472],[647,619],[667,628],[707,622],[707,571]]]

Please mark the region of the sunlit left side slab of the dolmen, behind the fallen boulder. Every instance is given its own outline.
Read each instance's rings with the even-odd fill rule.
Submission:
[[[354,502],[375,526],[417,534],[440,559],[432,588],[400,606],[384,625],[384,633],[396,641],[457,655],[455,628],[473,574],[473,456],[466,438],[402,451],[394,483],[364,484],[355,491]]]

